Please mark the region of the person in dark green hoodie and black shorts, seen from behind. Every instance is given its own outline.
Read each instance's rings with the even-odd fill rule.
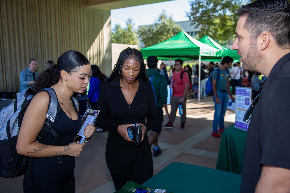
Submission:
[[[161,153],[161,149],[158,146],[158,135],[161,133],[161,127],[163,122],[163,110],[164,107],[166,117],[169,118],[167,110],[167,82],[164,76],[162,76],[157,69],[158,59],[156,56],[149,56],[147,58],[147,75],[151,82],[151,86],[155,95],[155,104],[157,112],[157,124],[152,128],[151,135],[148,137],[149,144],[153,144],[153,157],[157,157]]]

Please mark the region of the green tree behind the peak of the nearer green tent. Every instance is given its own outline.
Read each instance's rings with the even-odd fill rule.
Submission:
[[[142,25],[138,28],[138,35],[145,47],[161,43],[182,31],[182,27],[173,21],[172,15],[162,10],[152,25]]]

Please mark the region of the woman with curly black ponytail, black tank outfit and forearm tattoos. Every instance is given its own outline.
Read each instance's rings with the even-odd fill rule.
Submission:
[[[30,188],[30,192],[75,192],[75,157],[80,156],[84,143],[73,142],[82,123],[72,96],[86,91],[90,71],[88,59],[80,52],[70,50],[58,58],[57,65],[46,69],[36,80],[34,93],[48,87],[56,93],[59,102],[56,111],[59,112],[53,129],[58,134],[59,145],[51,133],[36,142],[50,102],[48,93],[38,92],[26,109],[17,139],[18,154],[33,157],[30,177],[28,171],[24,175],[24,192]],[[88,124],[84,135],[88,139],[94,131],[95,127]],[[58,156],[62,156],[63,164],[59,163]],[[28,181],[32,187],[28,187]]]

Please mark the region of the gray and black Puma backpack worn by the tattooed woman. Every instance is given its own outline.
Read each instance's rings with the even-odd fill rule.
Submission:
[[[50,102],[44,126],[38,134],[36,141],[39,141],[50,132],[58,145],[57,133],[52,128],[58,113],[57,96],[52,88],[41,89],[38,92],[41,91],[48,93]],[[32,159],[30,157],[19,155],[16,150],[17,137],[23,116],[34,96],[26,95],[26,93],[32,93],[32,89],[23,90],[17,101],[8,105],[0,112],[0,177],[13,178],[21,176],[32,165]],[[77,109],[78,103],[74,97],[73,103]],[[60,164],[64,163],[61,156],[58,159]]]

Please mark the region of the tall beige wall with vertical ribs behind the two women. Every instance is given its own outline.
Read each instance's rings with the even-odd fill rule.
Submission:
[[[67,50],[78,50],[104,71],[103,14],[80,0],[0,1],[0,92],[19,92],[30,58],[38,71]]]

